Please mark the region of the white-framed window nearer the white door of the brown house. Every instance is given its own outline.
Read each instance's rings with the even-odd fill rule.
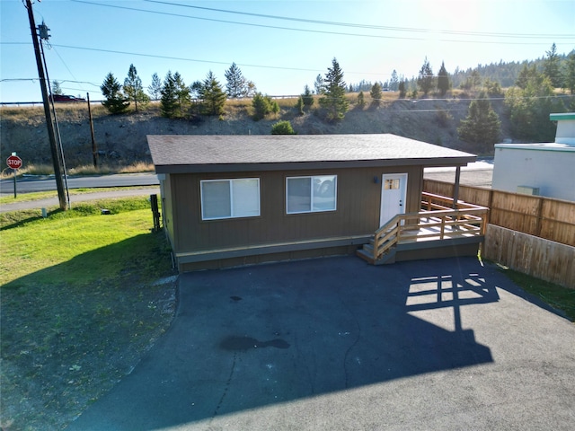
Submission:
[[[335,211],[337,175],[288,177],[286,210],[288,214]]]

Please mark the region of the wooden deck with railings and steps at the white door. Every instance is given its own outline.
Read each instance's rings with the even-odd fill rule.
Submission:
[[[419,213],[394,216],[358,251],[369,263],[392,263],[397,251],[416,251],[483,241],[489,208],[423,193]],[[417,253],[413,253],[417,256]]]

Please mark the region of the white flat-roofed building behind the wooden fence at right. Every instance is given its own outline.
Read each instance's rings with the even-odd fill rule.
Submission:
[[[493,189],[575,201],[575,112],[550,119],[554,143],[495,145]]]

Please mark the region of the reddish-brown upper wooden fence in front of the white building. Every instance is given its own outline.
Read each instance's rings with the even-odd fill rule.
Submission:
[[[455,185],[423,180],[423,191],[453,198]],[[489,223],[575,246],[575,202],[459,186],[459,200],[489,207]]]

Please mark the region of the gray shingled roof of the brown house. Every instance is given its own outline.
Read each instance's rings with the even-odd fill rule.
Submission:
[[[157,173],[391,165],[457,166],[475,155],[385,135],[147,136]]]

